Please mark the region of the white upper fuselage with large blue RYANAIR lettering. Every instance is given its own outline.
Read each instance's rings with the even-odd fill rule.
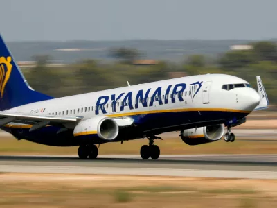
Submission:
[[[193,92],[196,89],[190,88],[190,84],[203,82],[199,92],[193,98]],[[206,85],[206,82],[211,82]],[[129,87],[120,87],[100,92],[91,92],[75,96],[67,96],[63,98],[55,98],[53,100],[30,103],[20,107],[15,107],[8,112],[21,112],[32,114],[51,114],[61,116],[82,116],[84,119],[93,116],[129,116],[137,114],[151,114],[155,112],[178,112],[180,110],[213,110],[226,109],[237,110],[238,112],[251,112],[256,107],[253,99],[258,98],[257,92],[253,88],[236,88],[231,91],[222,89],[224,84],[240,84],[247,81],[234,76],[227,75],[200,75],[188,76],[184,78],[175,78],[171,80],[163,80],[154,83],[146,83],[142,85],[133,85]],[[177,84],[185,84],[186,88],[181,93],[179,99],[178,89],[175,98],[172,98],[172,92]],[[172,85],[167,93],[168,86]],[[161,87],[161,94],[154,92]],[[181,88],[181,87],[179,87]],[[145,94],[150,89],[146,101]],[[191,90],[190,90],[191,89]],[[139,90],[143,90],[143,99],[137,96]],[[159,89],[158,89],[159,91]],[[112,98],[118,98],[116,107],[113,110],[114,102]],[[99,100],[99,98],[105,96]],[[161,97],[159,97],[161,96]],[[253,97],[254,96],[254,97]],[[108,100],[107,100],[108,98]],[[139,100],[136,100],[139,98]],[[182,99],[184,101],[182,101]],[[168,102],[166,101],[168,100]],[[181,100],[181,101],[180,101]],[[123,105],[123,101],[125,105]],[[144,106],[143,106],[144,102]],[[105,104],[105,105],[102,105]],[[102,109],[99,109],[101,106]],[[98,107],[98,109],[97,109]]]

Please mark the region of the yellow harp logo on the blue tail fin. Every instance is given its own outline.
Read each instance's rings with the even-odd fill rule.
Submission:
[[[10,78],[10,73],[12,72],[12,58],[8,56],[0,57],[0,92],[1,92],[1,98],[3,98],[4,90],[6,87],[6,84],[8,83],[8,80]]]

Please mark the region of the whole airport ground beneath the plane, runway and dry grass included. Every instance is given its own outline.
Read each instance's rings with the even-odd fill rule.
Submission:
[[[147,139],[103,144],[99,159],[82,161],[78,147],[1,132],[0,207],[277,207],[277,120],[258,118],[233,128],[233,143],[164,134],[157,161],[140,159]]]

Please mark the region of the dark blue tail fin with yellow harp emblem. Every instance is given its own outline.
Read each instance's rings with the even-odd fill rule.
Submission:
[[[49,99],[28,85],[0,34],[0,110]]]

